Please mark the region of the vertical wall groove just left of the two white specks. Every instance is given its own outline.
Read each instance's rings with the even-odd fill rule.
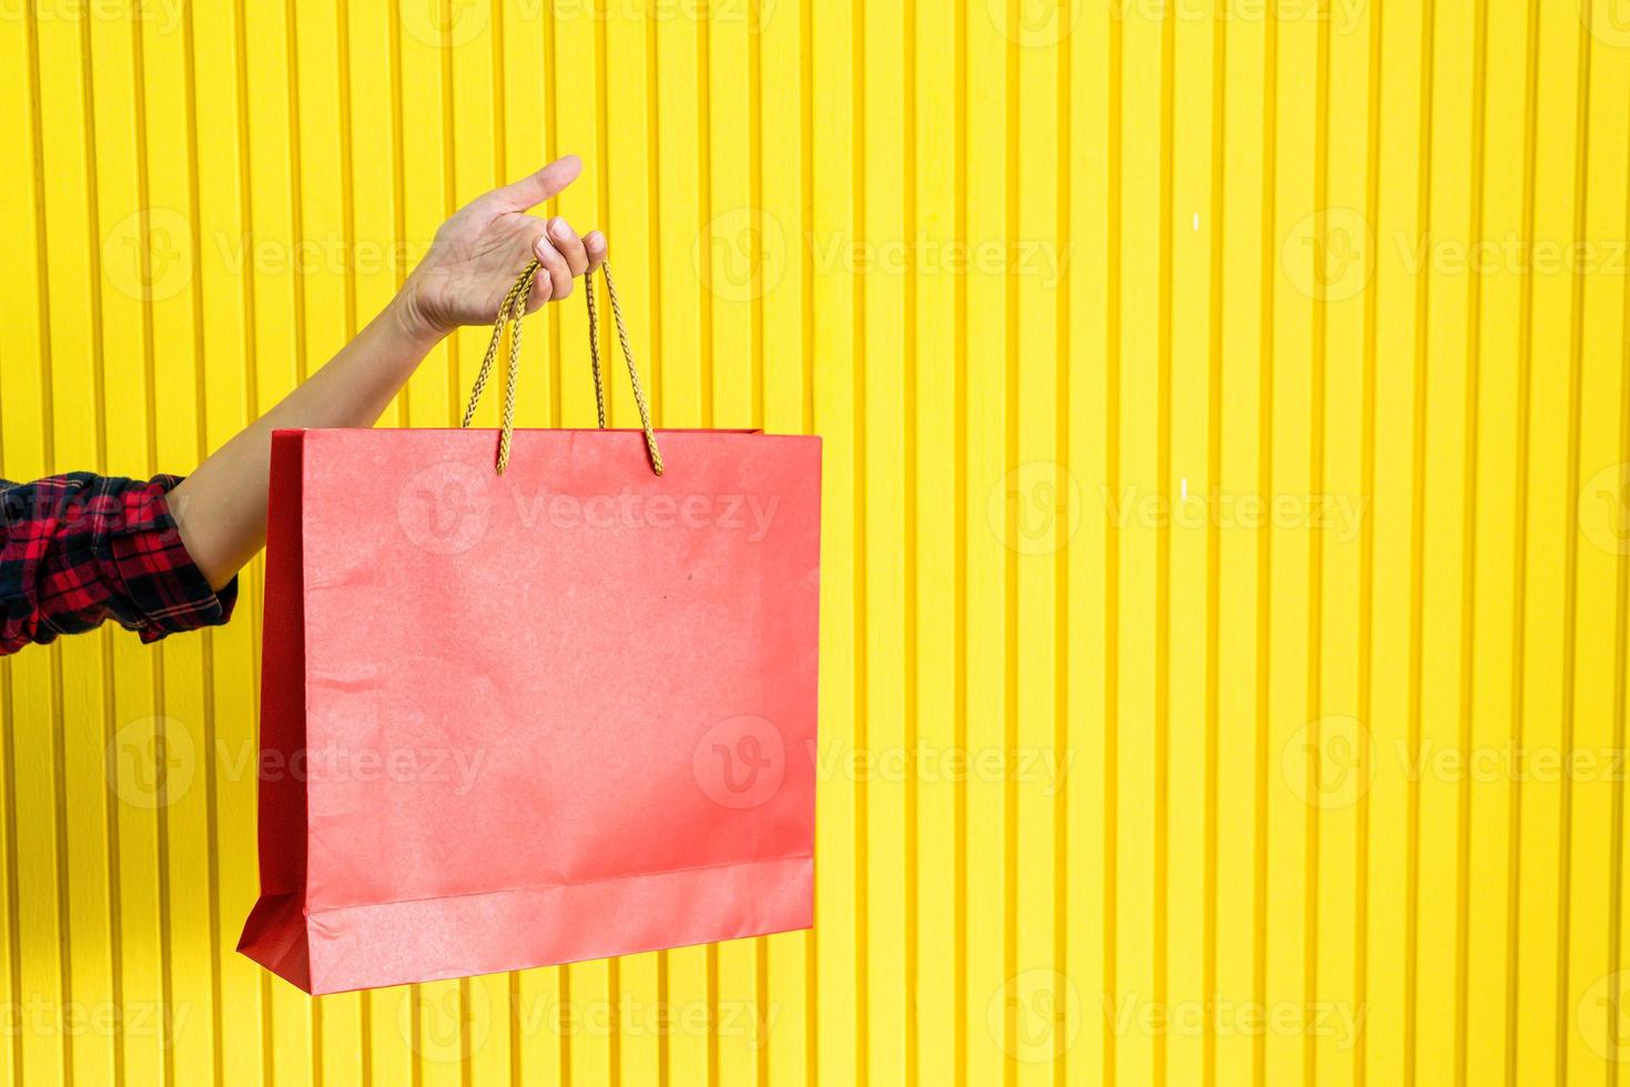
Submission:
[[[1161,181],[1157,189],[1156,228],[1156,494],[1162,508],[1172,499],[1172,210],[1175,155],[1172,134],[1177,98],[1177,15],[1172,3],[1161,5]],[[1170,847],[1172,847],[1172,523],[1162,518],[1154,536],[1154,887],[1152,948],[1154,1007],[1167,1007],[1170,962]],[[1170,1036],[1154,1038],[1154,1085],[1165,1087],[1170,1063]]]

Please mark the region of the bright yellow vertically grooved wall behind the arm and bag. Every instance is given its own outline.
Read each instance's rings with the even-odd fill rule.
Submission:
[[[269,979],[256,564],[0,665],[0,1076],[1630,1056],[1622,2],[3,0],[0,73],[0,474],[187,471],[567,150],[662,424],[826,438],[815,935]],[[522,424],[590,422],[533,328]]]

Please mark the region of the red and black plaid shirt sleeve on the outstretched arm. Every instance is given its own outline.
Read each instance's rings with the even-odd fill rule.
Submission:
[[[231,618],[170,512],[179,476],[0,479],[0,655],[112,619],[153,642]]]

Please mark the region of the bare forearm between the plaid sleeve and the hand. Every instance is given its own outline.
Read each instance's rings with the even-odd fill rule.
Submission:
[[[266,543],[272,430],[372,425],[438,339],[393,301],[171,491],[181,541],[212,587],[230,582]]]

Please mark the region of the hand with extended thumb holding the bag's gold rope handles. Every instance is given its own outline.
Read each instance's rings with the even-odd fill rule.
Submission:
[[[491,324],[533,257],[540,269],[526,313],[566,298],[574,277],[600,267],[606,240],[598,230],[579,236],[561,217],[526,213],[569,186],[582,168],[575,155],[557,158],[535,174],[476,197],[442,223],[393,303],[409,332],[440,339],[460,324]]]

